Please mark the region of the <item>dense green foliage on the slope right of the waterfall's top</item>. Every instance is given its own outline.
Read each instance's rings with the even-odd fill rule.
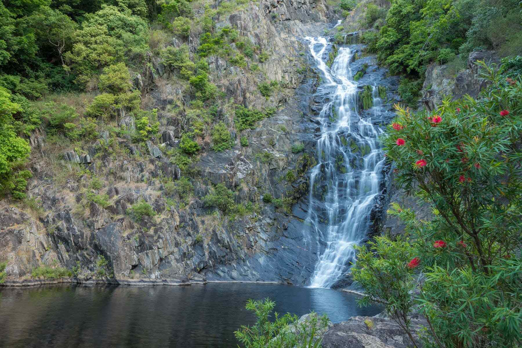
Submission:
[[[405,73],[400,94],[415,106],[431,62],[464,68],[471,51],[493,49],[501,56],[522,54],[522,13],[518,0],[392,0],[386,19],[362,40],[390,73]],[[378,18],[368,7],[367,17]],[[375,13],[375,15],[372,15]],[[371,26],[372,18],[367,18]],[[375,27],[374,26],[374,27]],[[452,68],[453,69],[453,68]],[[450,69],[450,70],[452,70]],[[421,80],[419,80],[421,79]]]

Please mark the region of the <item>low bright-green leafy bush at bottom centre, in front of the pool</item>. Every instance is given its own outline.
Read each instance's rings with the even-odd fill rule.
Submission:
[[[255,313],[256,323],[251,327],[241,326],[234,332],[236,339],[244,348],[321,346],[323,332],[328,328],[329,323],[326,315],[319,317],[311,313],[304,321],[299,321],[298,316],[289,313],[282,316],[276,313],[272,317],[271,313],[275,305],[275,302],[268,298],[264,301],[248,300],[246,309]]]

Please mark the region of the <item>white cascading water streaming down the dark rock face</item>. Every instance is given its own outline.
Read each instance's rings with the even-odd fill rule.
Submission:
[[[319,113],[321,134],[317,140],[318,164],[312,169],[310,207],[306,223],[326,242],[312,274],[311,287],[330,287],[347,273],[355,260],[354,246],[366,239],[370,211],[379,193],[384,155],[377,142],[381,130],[371,114],[358,110],[358,86],[350,63],[353,53],[340,47],[331,68],[325,52],[331,45],[324,37],[306,38],[317,67],[323,73],[320,89],[328,102]],[[373,88],[374,115],[382,100]],[[319,248],[321,250],[321,248]]]

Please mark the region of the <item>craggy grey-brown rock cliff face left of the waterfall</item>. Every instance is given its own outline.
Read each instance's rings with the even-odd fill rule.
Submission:
[[[187,126],[171,109],[179,101],[188,104],[189,97],[169,78],[161,60],[153,59],[150,77],[134,79],[136,88],[148,91],[146,107],[158,109],[161,124],[161,136],[148,141],[145,149],[102,132],[102,139],[88,149],[64,147],[61,159],[53,160],[44,132],[31,137],[34,177],[28,195],[41,207],[0,203],[0,261],[7,261],[8,280],[27,279],[31,269],[39,266],[74,269],[80,281],[302,284],[307,279],[316,256],[303,245],[302,221],[289,213],[291,208],[277,209],[262,197],[284,197],[291,207],[307,193],[304,174],[315,155],[311,148],[292,153],[291,146],[312,144],[314,127],[307,115],[314,112],[317,76],[306,68],[310,61],[300,38],[322,34],[336,18],[322,0],[264,1],[222,17],[217,18],[218,27],[238,29],[269,57],[260,64],[266,76],[246,74],[219,57],[211,58],[212,82],[236,103],[279,106],[278,112],[246,133],[248,147],[238,144],[237,134],[233,134],[236,145],[224,152],[211,151],[210,141],[204,141],[193,195],[186,205],[173,205],[164,194],[164,178],[179,179],[181,171],[165,153],[177,146]],[[190,42],[194,51],[197,38]],[[179,45],[176,40],[173,44]],[[262,78],[283,81],[280,93],[260,97],[256,86]],[[231,122],[225,110],[218,110],[217,117]],[[121,110],[118,125],[133,128],[133,118]],[[269,155],[259,160],[259,153]],[[78,168],[74,173],[79,174],[73,177],[63,171],[70,167]],[[293,182],[282,179],[289,171],[297,176]],[[101,179],[101,187],[90,191],[107,195],[108,203],[86,200],[82,188],[89,187],[88,177]],[[203,197],[218,183],[234,191],[236,203],[259,205],[259,209],[230,217],[205,207]],[[156,215],[129,217],[127,208],[139,201],[150,203]],[[101,256],[108,260],[107,266],[97,262]]]

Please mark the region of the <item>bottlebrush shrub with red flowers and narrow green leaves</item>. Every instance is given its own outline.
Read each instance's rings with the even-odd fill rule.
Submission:
[[[388,212],[404,221],[408,246],[389,250],[389,238],[377,239],[377,246],[360,249],[353,269],[388,313],[418,305],[428,318],[430,347],[522,343],[522,81],[480,65],[491,85],[477,100],[445,100],[431,114],[397,106],[394,123],[404,127],[389,126],[387,159],[395,163],[397,185],[431,205],[434,218],[422,221],[392,205]],[[397,146],[398,138],[405,144]],[[366,261],[369,253],[377,261]],[[408,266],[405,253],[418,258],[417,267]],[[372,272],[364,271],[370,266]],[[410,289],[416,273],[424,274],[419,292],[390,291],[400,284]]]

